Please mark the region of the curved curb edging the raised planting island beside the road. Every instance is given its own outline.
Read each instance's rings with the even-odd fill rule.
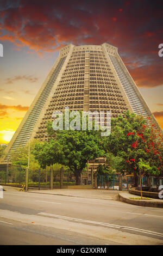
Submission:
[[[149,201],[149,200],[134,200],[127,197],[122,196],[121,193],[118,194],[120,201],[128,204],[135,204],[144,207],[155,207],[155,208],[163,208],[163,202]]]

